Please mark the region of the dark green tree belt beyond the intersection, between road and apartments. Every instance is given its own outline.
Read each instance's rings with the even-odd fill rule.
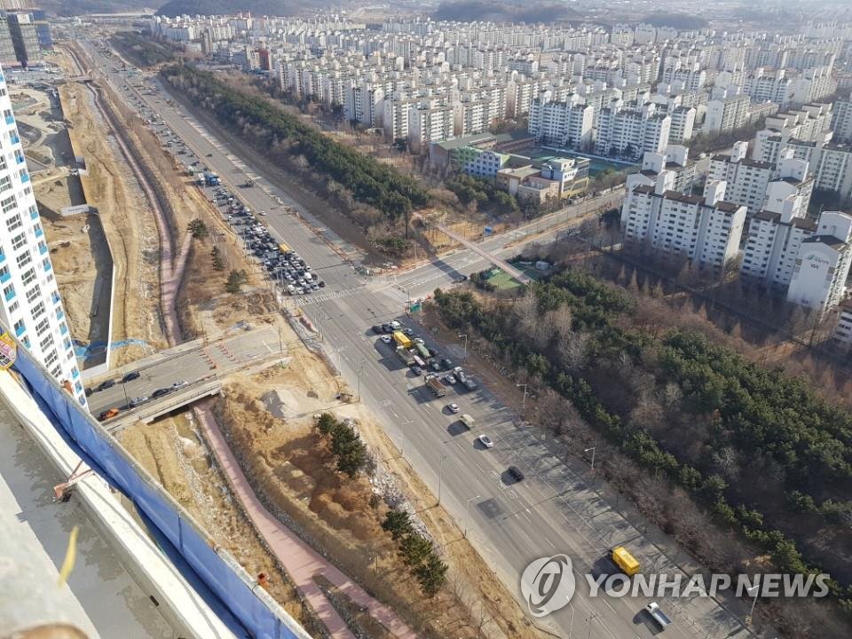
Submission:
[[[238,91],[214,74],[188,65],[172,65],[162,76],[226,126],[238,127],[252,144],[270,151],[287,146],[302,155],[311,170],[332,177],[359,202],[375,207],[391,221],[425,206],[430,195],[414,177],[335,142],[266,99]]]

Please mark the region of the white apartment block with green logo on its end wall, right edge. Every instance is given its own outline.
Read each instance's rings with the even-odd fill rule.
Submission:
[[[840,304],[852,264],[852,216],[824,211],[817,232],[801,242],[787,301],[818,311]]]

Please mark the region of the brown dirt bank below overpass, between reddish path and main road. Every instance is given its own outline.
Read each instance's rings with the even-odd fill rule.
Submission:
[[[289,355],[287,368],[235,377],[217,408],[248,477],[273,510],[295,521],[307,540],[326,548],[344,572],[423,635],[474,637],[481,630],[484,636],[538,636],[369,411],[336,400],[336,383],[301,344],[293,344]],[[312,431],[313,414],[323,411],[357,421],[380,461],[373,483],[367,477],[348,480],[329,465]],[[414,579],[399,570],[396,543],[381,529],[387,506],[370,497],[374,484],[388,483],[405,495],[450,566],[449,583],[434,599],[423,597]]]

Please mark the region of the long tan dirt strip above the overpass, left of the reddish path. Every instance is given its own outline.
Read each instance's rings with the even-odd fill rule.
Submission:
[[[112,340],[141,339],[155,348],[165,345],[157,304],[159,292],[159,236],[154,217],[130,167],[104,136],[106,122],[91,102],[83,84],[59,87],[76,152],[86,159],[89,175],[81,177],[86,198],[97,207],[114,259]],[[65,292],[62,291],[63,296]],[[72,299],[73,301],[73,299]],[[80,315],[84,309],[69,314]],[[145,355],[140,346],[113,351],[113,366]]]

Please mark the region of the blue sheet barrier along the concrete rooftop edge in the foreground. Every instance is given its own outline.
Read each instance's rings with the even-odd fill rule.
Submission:
[[[170,543],[195,573],[193,577],[209,588],[248,636],[256,639],[309,637],[229,553],[216,548],[215,542],[193,523],[177,501],[117,445],[99,422],[77,404],[20,343],[12,370],[28,383],[39,406],[51,417],[54,426],[64,431],[62,434],[72,446],[79,449],[83,459],[133,502],[146,522],[156,529],[152,531],[155,538]],[[185,573],[184,565],[178,564],[178,568]],[[227,623],[226,619],[223,621]],[[240,634],[243,633],[238,631]]]

